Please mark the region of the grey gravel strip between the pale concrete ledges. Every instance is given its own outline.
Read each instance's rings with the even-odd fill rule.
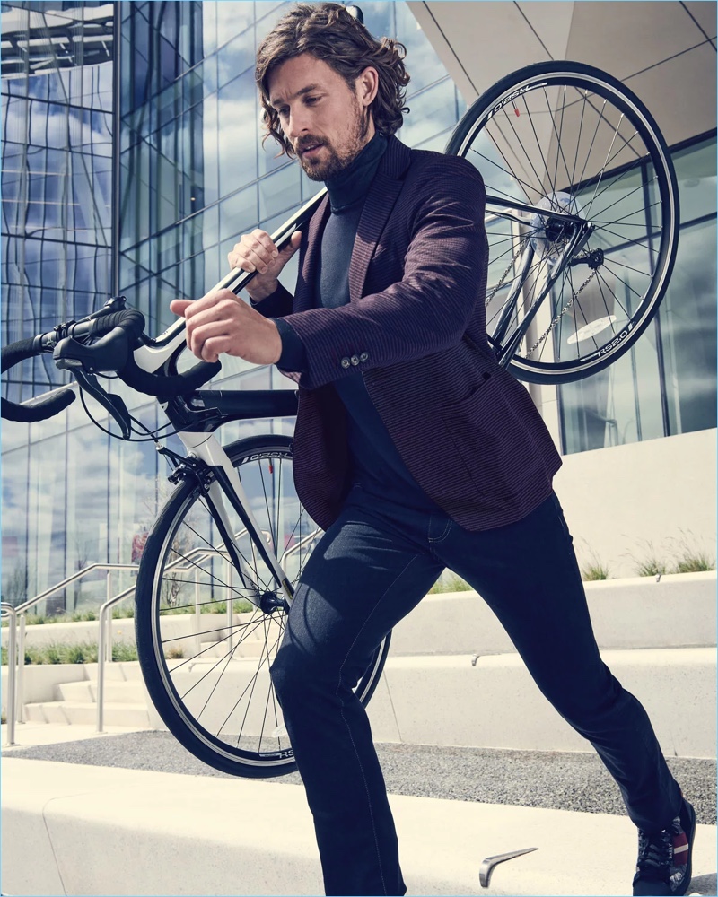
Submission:
[[[624,813],[616,784],[599,758],[591,753],[425,745],[378,745],[377,750],[392,794],[584,813]],[[198,761],[167,732],[130,732],[61,745],[15,748],[6,756],[227,778],[223,772]],[[696,807],[698,822],[715,824],[715,762],[673,757],[668,764],[683,793]],[[296,772],[265,780],[302,781]]]

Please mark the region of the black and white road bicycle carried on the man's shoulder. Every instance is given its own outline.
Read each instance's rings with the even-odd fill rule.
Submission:
[[[670,153],[640,100],[586,65],[531,65],[468,109],[447,152],[475,161],[486,182],[486,317],[500,363],[521,379],[564,383],[625,353],[666,291],[679,226]],[[273,234],[277,246],[324,193]],[[232,271],[218,288],[239,293],[251,276]],[[180,372],[184,327],[179,319],[152,339],[119,297],[83,321],[6,347],[2,370],[52,351],[123,439],[137,435],[137,422],[97,375],[118,373],[158,398],[187,457],[147,431],[171,461],[175,490],[137,576],[144,680],[167,727],[199,759],[236,775],[282,775],[295,764],[268,669],[320,531],[293,490],[289,437],[223,448],[214,433],[230,421],[291,416],[296,396],[201,389],[220,365]],[[3,416],[40,420],[72,400],[73,389],[63,387],[25,405],[4,403]],[[390,636],[356,686],[364,703],[389,645]]]

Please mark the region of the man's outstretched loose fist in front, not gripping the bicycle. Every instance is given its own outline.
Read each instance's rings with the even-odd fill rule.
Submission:
[[[170,310],[187,320],[189,350],[202,361],[217,361],[221,353],[237,355],[252,364],[279,361],[282,340],[274,321],[264,318],[230,290],[208,292],[197,301],[175,299]]]

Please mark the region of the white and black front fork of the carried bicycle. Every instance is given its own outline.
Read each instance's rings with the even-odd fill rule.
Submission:
[[[240,475],[232,466],[227,453],[211,433],[207,435],[206,433],[179,432],[177,435],[187,448],[188,457],[203,462],[215,476],[214,482],[208,485],[202,484],[207,507],[222,537],[227,553],[230,555],[230,561],[240,575],[242,586],[247,589],[247,599],[266,614],[276,610],[278,605],[285,605],[285,608],[288,609],[292,604],[294,594],[292,585],[276,557],[276,546],[270,547],[267,544],[265,534],[258,527],[257,520],[250,509],[250,501],[241,484]],[[267,564],[267,568],[271,570],[278,587],[277,591],[281,590],[283,593],[282,600],[277,597],[276,592],[261,592],[257,587],[237,541],[241,534],[233,532],[225,501],[229,501],[232,509],[241,519],[242,525],[250,537],[253,550],[257,550]],[[271,534],[268,535],[271,538]],[[273,548],[274,550],[272,550]]]

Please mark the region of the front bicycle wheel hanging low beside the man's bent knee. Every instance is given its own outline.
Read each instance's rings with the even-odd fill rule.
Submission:
[[[294,492],[292,440],[256,436],[225,451],[238,468],[259,526],[268,524],[268,541],[283,545],[279,561],[296,582],[320,531]],[[147,537],[136,585],[137,654],[154,707],[190,753],[232,775],[285,775],[296,764],[268,675],[284,632],[285,609],[265,614],[252,605],[238,606],[248,587],[232,581],[229,555],[214,535],[204,499],[212,480],[208,472],[204,486],[194,477],[182,481]],[[237,536],[240,532],[234,528],[255,577],[249,588],[272,588],[249,536]],[[213,610],[222,616],[212,618]],[[379,683],[389,644],[390,634],[356,686],[364,704]],[[166,656],[172,653],[182,656]]]

